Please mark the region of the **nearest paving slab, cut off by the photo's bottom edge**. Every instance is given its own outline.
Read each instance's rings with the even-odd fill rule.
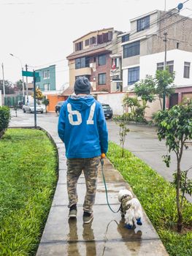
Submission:
[[[41,256],[165,256],[164,246],[158,241],[79,241],[72,243],[40,244]]]

